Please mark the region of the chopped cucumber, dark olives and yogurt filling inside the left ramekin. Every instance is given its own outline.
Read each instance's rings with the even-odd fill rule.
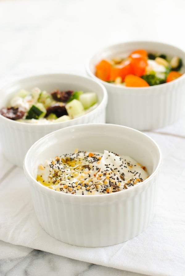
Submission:
[[[21,89],[0,113],[19,122],[57,123],[84,115],[95,108],[96,103],[95,92],[58,89],[47,92],[35,87],[31,91]]]

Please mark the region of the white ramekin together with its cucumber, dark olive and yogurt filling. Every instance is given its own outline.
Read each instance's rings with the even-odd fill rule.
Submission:
[[[80,75],[35,75],[11,82],[0,89],[2,152],[22,167],[27,150],[46,134],[78,124],[105,123],[107,100],[101,83]]]

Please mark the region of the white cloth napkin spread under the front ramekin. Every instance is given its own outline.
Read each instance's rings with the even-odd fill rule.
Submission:
[[[39,225],[23,169],[14,166],[0,185],[0,239],[147,275],[185,275],[185,139],[147,134],[159,144],[164,163],[154,220],[138,237],[102,248],[83,248],[55,240]],[[1,157],[1,168],[3,160]]]

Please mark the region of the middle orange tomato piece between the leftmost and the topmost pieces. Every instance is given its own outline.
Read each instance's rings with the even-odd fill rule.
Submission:
[[[124,81],[125,76],[132,74],[132,66],[130,60],[126,60],[121,64],[115,65],[110,70],[110,79],[114,81],[117,77],[121,77]]]

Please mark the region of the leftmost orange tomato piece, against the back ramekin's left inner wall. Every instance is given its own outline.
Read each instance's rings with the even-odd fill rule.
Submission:
[[[109,81],[111,67],[112,65],[108,60],[102,59],[96,65],[96,77],[104,81]]]

